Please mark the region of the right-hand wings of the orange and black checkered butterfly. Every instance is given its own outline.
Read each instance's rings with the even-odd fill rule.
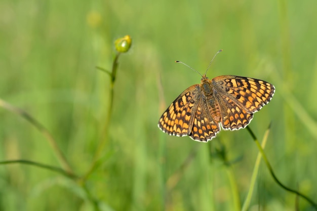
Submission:
[[[221,124],[230,130],[245,128],[275,91],[268,82],[239,76],[219,76],[212,84],[220,105]]]

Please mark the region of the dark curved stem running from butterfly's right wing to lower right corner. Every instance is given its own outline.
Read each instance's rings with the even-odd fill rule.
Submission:
[[[265,155],[265,153],[264,153],[264,150],[262,149],[262,147],[261,147],[261,145],[260,145],[258,139],[255,137],[254,133],[253,133],[252,130],[249,128],[249,126],[247,126],[247,129],[248,129],[248,131],[250,132],[251,136],[254,138],[254,142],[255,142],[256,146],[258,147],[260,153],[262,154],[262,157],[263,157],[263,160],[264,160],[264,162],[265,162],[265,164],[266,164],[266,167],[268,168],[268,170],[269,170],[270,174],[272,175],[274,181],[275,181],[276,183],[278,183],[278,185],[281,186],[283,189],[285,189],[285,190],[287,190],[287,191],[289,191],[289,192],[295,193],[295,194],[297,194],[298,196],[301,196],[302,198],[304,198],[306,201],[308,201],[308,202],[317,210],[317,204],[316,204],[314,201],[312,201],[310,198],[308,198],[308,197],[305,196],[304,194],[302,194],[302,193],[300,193],[300,192],[298,192],[298,191],[296,191],[296,190],[293,190],[293,189],[291,189],[291,188],[286,187],[285,185],[283,185],[283,184],[279,181],[279,179],[275,176],[275,173],[274,173],[274,171],[273,171],[273,168],[272,168],[272,166],[270,165],[270,163],[268,162],[268,159],[267,159],[267,157],[266,157],[266,155]]]

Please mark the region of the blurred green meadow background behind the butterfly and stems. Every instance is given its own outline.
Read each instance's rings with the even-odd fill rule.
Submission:
[[[0,98],[50,131],[78,177],[90,169],[108,118],[110,80],[96,66],[110,70],[114,41],[132,37],[118,61],[97,168],[72,180],[31,165],[1,165],[0,210],[239,210],[258,153],[248,131],[222,131],[202,144],[157,128],[168,105],[200,83],[174,61],[204,73],[219,49],[209,78],[247,76],[275,86],[249,126],[261,140],[271,123],[265,151],[276,175],[316,202],[314,3],[0,1]],[[46,137],[4,108],[0,144],[2,161],[62,167]],[[254,188],[249,210],[312,210],[302,198],[296,205],[263,162]]]

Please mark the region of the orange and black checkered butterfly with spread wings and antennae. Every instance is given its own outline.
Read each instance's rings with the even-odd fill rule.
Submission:
[[[245,128],[275,92],[274,86],[263,80],[231,75],[210,80],[206,73],[201,75],[201,84],[183,91],[163,113],[158,124],[163,132],[208,142],[221,129]]]

